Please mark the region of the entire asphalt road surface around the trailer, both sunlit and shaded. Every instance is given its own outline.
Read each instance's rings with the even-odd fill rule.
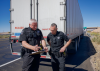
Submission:
[[[5,64],[20,56],[11,55],[10,43],[8,39],[0,39],[0,65]],[[20,44],[13,44],[15,51],[20,51]],[[93,53],[90,53],[92,49]],[[94,71],[90,63],[92,55],[96,53],[89,37],[84,36],[80,42],[79,49],[76,54],[68,54],[66,57],[66,71]],[[0,67],[0,71],[21,71],[22,60],[19,59],[10,64]],[[50,59],[40,60],[39,71],[52,71]]]

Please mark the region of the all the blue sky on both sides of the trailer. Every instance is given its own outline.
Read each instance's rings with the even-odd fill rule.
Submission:
[[[78,0],[85,27],[100,27],[100,0]],[[0,0],[0,32],[10,31],[10,0]]]

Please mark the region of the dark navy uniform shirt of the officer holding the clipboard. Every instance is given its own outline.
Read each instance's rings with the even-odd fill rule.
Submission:
[[[41,30],[32,30],[30,27],[24,28],[20,34],[19,42],[26,41],[28,44],[35,46],[40,45],[40,41],[43,40]]]

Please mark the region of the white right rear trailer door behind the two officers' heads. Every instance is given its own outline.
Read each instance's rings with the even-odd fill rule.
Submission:
[[[46,37],[52,23],[56,23],[59,31],[64,31],[64,0],[38,0],[38,28]]]

